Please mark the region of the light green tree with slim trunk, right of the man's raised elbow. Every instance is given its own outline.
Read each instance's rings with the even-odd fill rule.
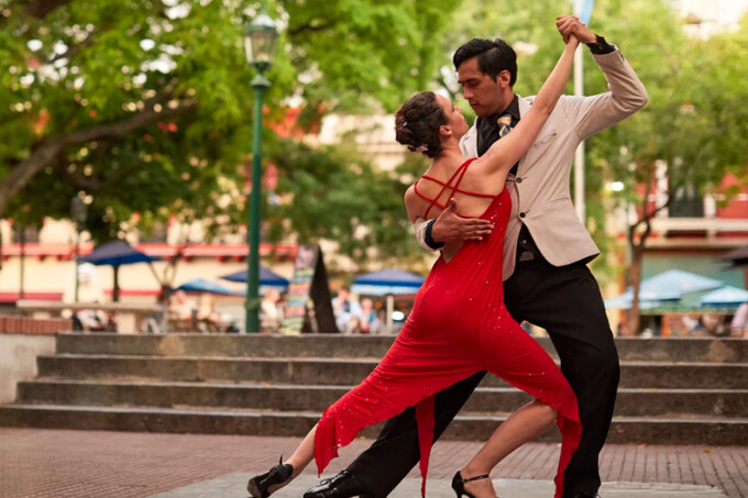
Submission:
[[[748,182],[748,152],[741,144],[748,115],[740,104],[748,98],[743,76],[748,30],[744,19],[736,32],[690,36],[678,12],[644,0],[608,0],[604,12],[600,21],[606,33],[625,41],[625,53],[650,97],[642,111],[588,141],[596,177],[622,181],[625,188],[614,200],[637,207],[628,230],[627,283],[638,294],[657,213],[683,196],[700,199],[715,191],[727,173]],[[668,192],[658,191],[662,200],[652,204],[658,164],[667,168]],[[627,319],[631,332],[638,330],[637,294]]]

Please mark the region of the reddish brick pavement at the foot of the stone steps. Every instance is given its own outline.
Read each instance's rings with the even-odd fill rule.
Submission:
[[[229,473],[265,471],[299,439],[0,428],[0,498],[141,498]],[[336,473],[371,440],[341,451]],[[429,475],[450,478],[480,443],[433,446]],[[531,443],[506,458],[494,478],[552,479],[559,447]],[[306,474],[315,474],[310,466]],[[608,445],[605,482],[712,485],[748,498],[748,449]],[[411,473],[415,477],[417,471]]]

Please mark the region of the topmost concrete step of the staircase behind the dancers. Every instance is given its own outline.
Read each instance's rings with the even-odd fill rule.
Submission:
[[[371,357],[381,358],[393,335],[304,334],[59,334],[57,352],[158,356]],[[556,355],[550,339],[538,342]],[[623,361],[748,363],[748,341],[740,339],[616,339]]]

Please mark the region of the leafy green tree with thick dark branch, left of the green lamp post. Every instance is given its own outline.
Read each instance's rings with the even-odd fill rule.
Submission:
[[[85,192],[106,240],[133,212],[210,209],[246,129],[240,18],[229,2],[169,3],[4,5],[0,213],[66,217]]]

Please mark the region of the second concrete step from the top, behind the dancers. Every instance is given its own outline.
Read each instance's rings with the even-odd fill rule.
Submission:
[[[237,358],[211,356],[129,356],[64,354],[38,357],[45,377],[153,378],[162,380],[253,380],[271,384],[358,385],[377,359],[366,358]],[[488,376],[486,386],[506,383]],[[620,387],[662,389],[743,389],[748,364],[622,362]]]

